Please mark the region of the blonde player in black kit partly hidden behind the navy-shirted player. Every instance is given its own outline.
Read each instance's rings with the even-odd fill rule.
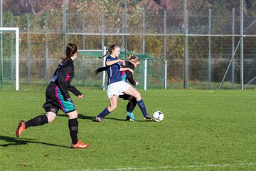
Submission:
[[[137,65],[139,65],[140,63],[141,63],[140,58],[137,56],[133,56],[132,53],[130,53],[129,56],[127,56],[127,61],[125,61],[125,66],[122,66],[122,67],[131,68],[134,71],[134,68],[136,68]],[[97,70],[95,70],[95,74],[97,75],[98,73],[106,70],[107,70],[107,67],[97,68]],[[124,82],[129,81],[129,83],[131,83],[133,86],[137,86],[139,84],[139,82],[134,81],[133,74],[129,70],[121,71],[120,74]],[[124,100],[129,100],[129,102],[127,103],[126,120],[135,121],[133,110],[137,105],[136,98],[134,98],[134,96],[132,95],[127,95],[127,94],[119,95],[119,98],[122,98]]]

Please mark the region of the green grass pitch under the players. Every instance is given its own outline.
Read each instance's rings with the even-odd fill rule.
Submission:
[[[16,138],[20,119],[43,115],[44,90],[0,91],[0,170],[256,170],[254,90],[140,90],[160,123],[125,122],[126,101],[107,115],[103,90],[73,96],[79,113],[78,138],[90,146],[70,149],[68,117],[28,128]]]

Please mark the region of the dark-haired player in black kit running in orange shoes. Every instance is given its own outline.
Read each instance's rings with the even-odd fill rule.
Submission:
[[[78,89],[70,85],[70,82],[75,76],[74,60],[78,56],[78,48],[73,43],[69,43],[66,47],[66,58],[58,65],[46,88],[46,103],[43,108],[46,110],[46,115],[38,115],[36,118],[25,122],[21,120],[16,129],[16,136],[19,137],[23,131],[31,126],[44,125],[52,123],[58,114],[58,110],[63,110],[69,117],[68,128],[72,140],[71,148],[85,148],[87,144],[83,144],[78,140],[78,112],[75,110],[75,105],[68,91],[77,95],[78,98],[83,98],[84,95]]]

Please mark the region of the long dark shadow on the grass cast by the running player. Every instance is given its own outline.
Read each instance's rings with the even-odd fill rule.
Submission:
[[[38,142],[35,139],[31,139],[31,138],[14,138],[14,137],[7,137],[7,136],[0,135],[0,140],[5,140],[6,142],[8,142],[6,144],[0,145],[1,147],[8,147],[10,145],[27,145],[28,143],[35,143],[35,144],[50,145],[55,147],[70,148],[64,145],[55,145],[48,142]]]

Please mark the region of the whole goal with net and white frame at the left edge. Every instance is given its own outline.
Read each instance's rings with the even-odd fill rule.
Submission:
[[[18,28],[0,27],[0,88],[19,89],[18,81]]]

